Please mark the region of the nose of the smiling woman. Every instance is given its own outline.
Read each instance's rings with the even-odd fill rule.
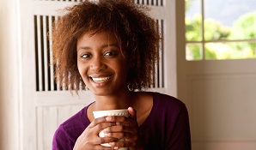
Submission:
[[[100,72],[102,69],[106,69],[107,65],[103,62],[103,57],[95,56],[92,58],[90,69],[94,72]]]

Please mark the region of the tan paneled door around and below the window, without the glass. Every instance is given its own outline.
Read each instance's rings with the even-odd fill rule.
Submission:
[[[177,6],[178,97],[188,106],[192,149],[256,149],[256,59],[186,61],[184,1]]]

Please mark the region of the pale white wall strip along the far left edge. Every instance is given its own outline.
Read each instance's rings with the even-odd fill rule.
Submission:
[[[19,46],[15,0],[0,2],[0,149],[19,146]]]

